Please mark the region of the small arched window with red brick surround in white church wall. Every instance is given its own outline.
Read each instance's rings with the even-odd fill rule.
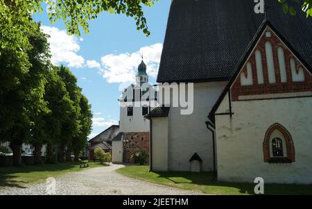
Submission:
[[[295,162],[295,145],[291,133],[281,124],[272,124],[263,141],[264,162]]]

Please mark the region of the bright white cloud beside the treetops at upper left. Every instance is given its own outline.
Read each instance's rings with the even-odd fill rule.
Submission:
[[[50,35],[48,40],[54,65],[66,63],[68,67],[83,67],[85,59],[77,54],[80,46],[76,36],[50,26],[42,26],[42,30]]]

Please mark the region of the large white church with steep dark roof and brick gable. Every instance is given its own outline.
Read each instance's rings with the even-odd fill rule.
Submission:
[[[312,19],[254,6],[172,1],[157,82],[194,83],[194,108],[151,110],[150,170],[312,183]]]

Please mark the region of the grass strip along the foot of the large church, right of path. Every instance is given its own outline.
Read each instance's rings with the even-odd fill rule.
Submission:
[[[254,194],[252,183],[224,183],[211,181],[211,172],[148,172],[148,166],[129,166],[118,169],[119,174],[205,194]],[[312,194],[312,185],[265,184],[265,194]]]

